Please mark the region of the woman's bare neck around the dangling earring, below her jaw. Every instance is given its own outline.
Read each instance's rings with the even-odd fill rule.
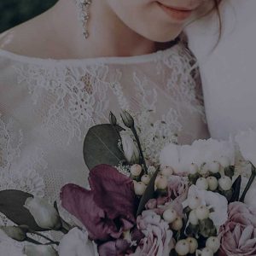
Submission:
[[[105,1],[94,0],[90,5],[88,29],[83,38],[77,9],[72,0],[60,0],[51,10],[55,32],[68,52],[77,58],[144,55],[156,50],[156,44],[119,20]]]

